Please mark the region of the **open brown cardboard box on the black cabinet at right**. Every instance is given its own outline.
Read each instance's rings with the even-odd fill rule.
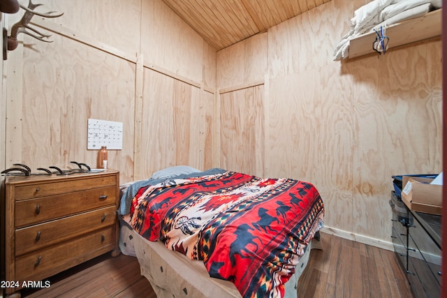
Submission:
[[[442,213],[442,185],[430,184],[433,179],[402,177],[402,202],[410,210],[429,214]]]

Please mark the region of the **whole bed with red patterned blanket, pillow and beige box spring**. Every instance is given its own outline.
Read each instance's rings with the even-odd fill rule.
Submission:
[[[159,298],[296,297],[324,207],[304,181],[183,166],[122,186],[118,213]]]

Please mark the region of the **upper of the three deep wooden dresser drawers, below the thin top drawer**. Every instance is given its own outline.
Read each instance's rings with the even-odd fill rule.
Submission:
[[[15,227],[42,223],[117,202],[117,187],[109,186],[64,195],[15,202]]]

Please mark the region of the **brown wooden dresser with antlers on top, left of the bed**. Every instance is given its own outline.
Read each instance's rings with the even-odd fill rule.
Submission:
[[[108,251],[119,254],[119,172],[4,182],[6,294]]]

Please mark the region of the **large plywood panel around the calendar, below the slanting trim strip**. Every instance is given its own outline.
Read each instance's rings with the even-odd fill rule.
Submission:
[[[135,64],[54,36],[54,43],[25,47],[23,77],[22,163],[97,167],[98,152],[87,150],[87,119],[105,119],[124,124],[123,149],[108,158],[131,177]]]

